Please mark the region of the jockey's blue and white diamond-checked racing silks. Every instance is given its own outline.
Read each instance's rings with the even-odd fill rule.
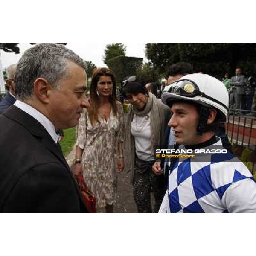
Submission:
[[[159,212],[256,212],[256,182],[230,152],[204,162],[179,159],[167,191]]]

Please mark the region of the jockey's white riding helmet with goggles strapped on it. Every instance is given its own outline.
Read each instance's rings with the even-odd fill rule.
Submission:
[[[162,102],[168,105],[175,99],[197,102],[214,107],[227,116],[228,92],[225,85],[213,76],[189,74],[170,84],[163,90]]]

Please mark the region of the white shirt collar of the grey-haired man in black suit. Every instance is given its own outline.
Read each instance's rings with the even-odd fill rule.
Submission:
[[[44,126],[44,128],[47,130],[47,132],[52,137],[52,140],[54,140],[55,143],[58,142],[58,134],[55,132],[55,127],[53,123],[42,113],[37,111],[35,108],[32,108],[28,104],[21,102],[20,100],[16,100],[16,102],[13,104],[17,108],[20,108],[22,111],[26,112],[30,116],[34,117],[38,122],[41,123],[41,125]]]

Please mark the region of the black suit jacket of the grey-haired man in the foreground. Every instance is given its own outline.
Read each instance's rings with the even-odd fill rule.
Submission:
[[[61,148],[15,106],[0,115],[0,212],[87,212]]]

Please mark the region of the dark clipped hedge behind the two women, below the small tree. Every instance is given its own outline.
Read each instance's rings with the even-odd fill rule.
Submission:
[[[116,81],[121,82],[127,76],[136,74],[143,58],[118,56],[108,61],[108,67],[115,73]]]

